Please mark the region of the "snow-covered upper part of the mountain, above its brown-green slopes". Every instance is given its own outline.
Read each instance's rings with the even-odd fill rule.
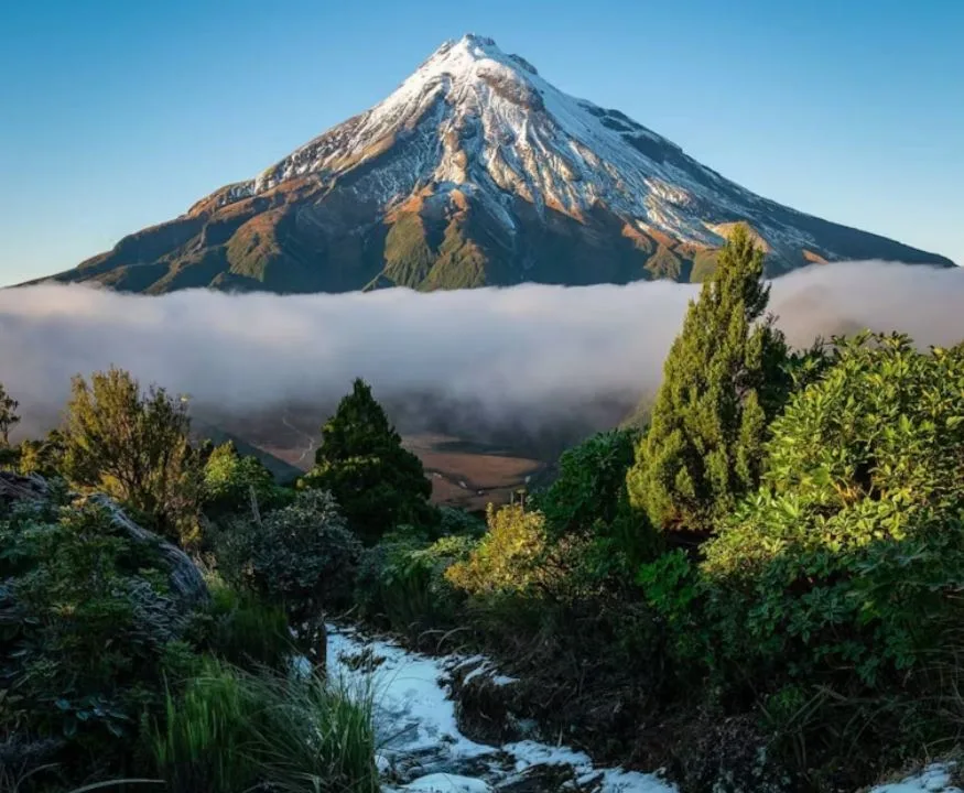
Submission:
[[[750,219],[771,247],[808,247],[805,232],[769,222],[761,199],[696,163],[617,110],[555,88],[524,58],[467,34],[440,46],[390,96],[334,127],[223,203],[304,176],[353,180],[356,195],[381,207],[415,191],[458,188],[507,227],[513,200],[582,219],[602,206],[627,233],[659,231],[697,246],[717,228]]]

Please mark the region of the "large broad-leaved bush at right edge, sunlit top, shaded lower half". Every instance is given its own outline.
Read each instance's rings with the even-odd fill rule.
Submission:
[[[703,561],[678,551],[640,582],[678,680],[756,708],[828,784],[960,731],[964,355],[840,341],[771,431],[759,491]]]

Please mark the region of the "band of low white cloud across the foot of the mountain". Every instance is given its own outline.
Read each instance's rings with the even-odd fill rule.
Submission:
[[[653,390],[697,292],[669,282],[284,297],[4,290],[0,381],[31,428],[50,422],[73,374],[111,365],[236,414],[331,405],[364,377],[389,403],[433,394],[472,405],[479,422],[551,422]],[[962,306],[964,272],[881,262],[814,265],[777,279],[771,297],[797,345],[857,327],[953,344]]]

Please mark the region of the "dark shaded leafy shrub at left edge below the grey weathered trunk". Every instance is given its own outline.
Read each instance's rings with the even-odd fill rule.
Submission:
[[[21,508],[0,582],[0,732],[66,741],[78,770],[118,761],[186,626],[160,556],[98,509]]]

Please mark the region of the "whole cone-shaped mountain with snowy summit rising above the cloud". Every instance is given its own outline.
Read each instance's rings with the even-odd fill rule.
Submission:
[[[754,195],[466,35],[256,178],[53,280],[149,294],[698,281],[740,220],[770,275],[842,259],[952,265]]]

